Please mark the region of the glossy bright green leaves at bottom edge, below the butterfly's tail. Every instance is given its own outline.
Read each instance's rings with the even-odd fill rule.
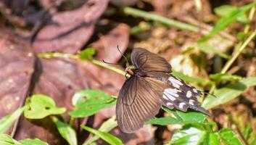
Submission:
[[[216,132],[212,130],[210,124],[189,124],[184,125],[180,130],[176,130],[169,144],[210,144],[210,145],[241,145],[241,140],[229,128],[223,128]]]

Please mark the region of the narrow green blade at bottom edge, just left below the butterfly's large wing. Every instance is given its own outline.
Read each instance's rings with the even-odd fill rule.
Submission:
[[[94,133],[96,136],[99,136],[104,141],[106,141],[108,144],[112,144],[112,145],[123,144],[123,142],[119,138],[112,136],[110,133],[105,133],[105,132],[102,132],[99,130],[94,130],[94,129],[88,128],[87,126],[84,126],[84,125],[80,125],[80,127],[83,128],[84,130],[87,130],[90,133]]]

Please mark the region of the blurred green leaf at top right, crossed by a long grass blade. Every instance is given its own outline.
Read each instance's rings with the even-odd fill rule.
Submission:
[[[231,12],[236,11],[239,9],[238,7],[230,6],[230,5],[222,5],[220,7],[217,7],[214,9],[214,12],[218,14],[220,17],[226,17]],[[238,22],[242,23],[248,23],[249,19],[247,17],[247,14],[244,12],[244,14],[241,14],[239,17],[236,18]]]

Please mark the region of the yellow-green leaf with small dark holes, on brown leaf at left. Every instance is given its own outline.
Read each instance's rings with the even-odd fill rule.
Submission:
[[[64,113],[64,107],[56,107],[53,99],[43,94],[31,96],[31,100],[26,107],[24,116],[28,119],[41,119],[48,115],[60,115]]]

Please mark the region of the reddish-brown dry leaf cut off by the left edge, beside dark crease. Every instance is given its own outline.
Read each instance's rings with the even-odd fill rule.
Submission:
[[[0,118],[21,107],[29,93],[35,56],[30,47],[0,38]]]

